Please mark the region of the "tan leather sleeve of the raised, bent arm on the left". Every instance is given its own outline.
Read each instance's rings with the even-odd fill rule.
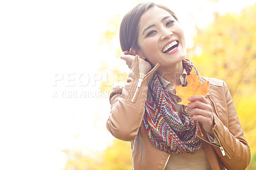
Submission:
[[[113,88],[109,97],[111,112],[106,126],[114,137],[124,141],[132,141],[138,134],[145,111],[148,82],[159,66],[157,64],[141,78],[138,62],[139,58],[134,58],[124,88]]]

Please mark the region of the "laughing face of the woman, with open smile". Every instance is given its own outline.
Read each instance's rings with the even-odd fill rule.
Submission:
[[[179,22],[156,6],[141,15],[138,45],[140,56],[152,65],[172,66],[186,57],[184,33]]]

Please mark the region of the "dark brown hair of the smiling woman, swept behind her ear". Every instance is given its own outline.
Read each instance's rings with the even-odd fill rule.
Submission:
[[[175,18],[175,20],[178,20],[175,13],[173,13],[172,10],[170,10],[166,6],[163,6],[161,4],[155,4],[152,2],[138,4],[124,16],[121,22],[120,45],[122,51],[129,50],[130,48],[134,50],[140,49],[138,45],[138,25],[140,22],[140,18],[144,12],[154,6],[166,10]]]

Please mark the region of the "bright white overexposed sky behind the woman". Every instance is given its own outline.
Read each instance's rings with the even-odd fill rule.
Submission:
[[[239,12],[256,0],[155,2],[177,14],[189,46],[193,27],[207,26],[212,11]],[[109,102],[98,86],[107,75],[98,70],[102,62],[122,61],[99,37],[113,16],[137,3],[0,2],[0,169],[56,170],[67,159],[60,150],[106,148],[113,139],[106,131]]]

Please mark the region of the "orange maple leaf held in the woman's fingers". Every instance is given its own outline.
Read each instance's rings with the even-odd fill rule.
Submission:
[[[209,81],[205,81],[201,84],[200,77],[196,75],[195,68],[193,67],[190,74],[187,76],[188,86],[177,86],[174,84],[176,89],[176,95],[181,98],[181,102],[178,104],[188,105],[190,101],[187,99],[194,95],[206,96],[209,90]]]

